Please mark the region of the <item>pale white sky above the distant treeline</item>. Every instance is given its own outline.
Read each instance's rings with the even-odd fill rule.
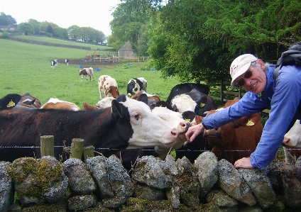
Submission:
[[[55,23],[61,28],[72,25],[91,27],[108,36],[111,35],[109,23],[113,20],[111,13],[120,3],[119,0],[0,0],[0,12],[15,18],[17,24],[35,19]]]

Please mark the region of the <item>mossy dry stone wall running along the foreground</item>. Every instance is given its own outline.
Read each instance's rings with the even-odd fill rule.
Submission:
[[[130,176],[115,155],[22,157],[0,162],[0,211],[300,211],[295,165],[235,169],[203,152],[195,164],[144,156]]]

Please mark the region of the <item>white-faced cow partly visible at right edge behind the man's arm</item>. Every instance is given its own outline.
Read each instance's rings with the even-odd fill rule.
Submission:
[[[284,135],[283,148],[285,162],[292,163],[301,155],[301,120],[297,119],[292,128]]]

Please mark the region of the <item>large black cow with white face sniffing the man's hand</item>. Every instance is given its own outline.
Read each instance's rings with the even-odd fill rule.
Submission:
[[[73,138],[82,138],[84,145],[93,145],[108,157],[128,148],[170,145],[182,133],[145,103],[125,95],[114,99],[111,108],[90,111],[37,110],[16,105],[20,99],[18,94],[0,99],[0,161],[40,157],[41,135],[53,135],[56,147],[64,141],[68,147]],[[59,156],[55,150],[55,157]]]

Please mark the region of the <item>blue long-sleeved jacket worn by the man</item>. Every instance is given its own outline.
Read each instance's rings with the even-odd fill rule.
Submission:
[[[218,128],[270,106],[270,115],[261,140],[250,157],[252,166],[259,169],[267,167],[273,161],[301,100],[301,67],[283,66],[278,72],[276,83],[273,79],[274,69],[270,66],[266,70],[267,84],[261,96],[247,92],[236,104],[217,111],[202,121],[206,129]]]

